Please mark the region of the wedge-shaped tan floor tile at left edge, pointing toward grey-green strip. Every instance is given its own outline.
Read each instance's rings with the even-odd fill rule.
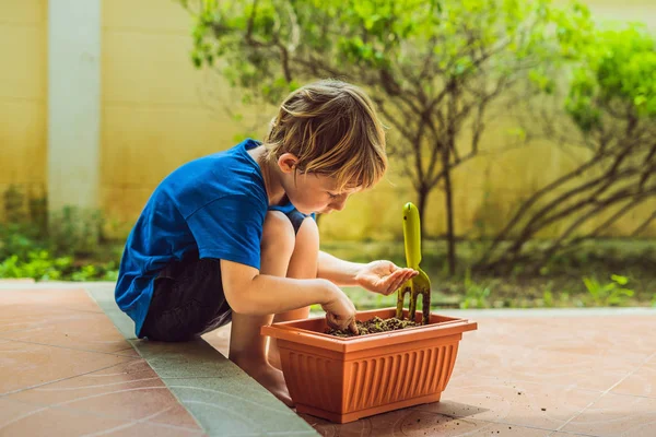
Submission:
[[[0,343],[0,394],[132,359],[127,356],[4,341]]]

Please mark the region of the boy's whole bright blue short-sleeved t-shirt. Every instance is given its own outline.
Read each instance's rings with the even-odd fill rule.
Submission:
[[[126,243],[115,292],[120,309],[134,320],[138,335],[154,277],[168,262],[198,252],[200,258],[259,270],[268,198],[260,168],[247,152],[259,144],[249,139],[187,163],[149,199]]]

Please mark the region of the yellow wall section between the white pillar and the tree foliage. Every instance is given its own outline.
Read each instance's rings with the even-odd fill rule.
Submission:
[[[167,173],[230,137],[198,96],[201,75],[178,4],[105,0],[102,16],[101,192],[107,215],[121,222]]]

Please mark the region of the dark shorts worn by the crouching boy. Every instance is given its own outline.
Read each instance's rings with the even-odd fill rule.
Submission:
[[[286,215],[297,233],[306,216],[296,210]],[[231,320],[220,260],[199,259],[196,252],[168,263],[155,277],[140,336],[154,341],[189,341]]]

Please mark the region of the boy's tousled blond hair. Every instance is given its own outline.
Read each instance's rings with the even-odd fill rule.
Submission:
[[[265,139],[267,161],[283,153],[301,173],[331,176],[339,190],[371,188],[385,174],[385,130],[374,105],[358,86],[337,80],[291,93]]]

